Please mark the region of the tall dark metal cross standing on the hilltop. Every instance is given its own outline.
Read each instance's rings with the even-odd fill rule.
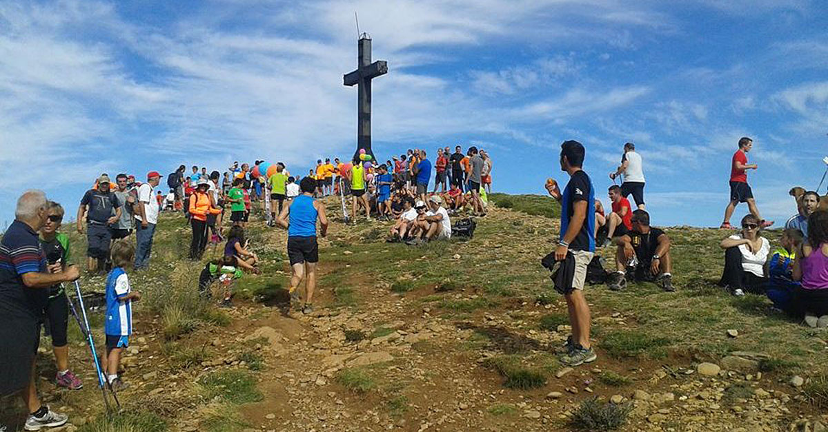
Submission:
[[[379,75],[388,74],[388,63],[385,60],[377,60],[371,63],[371,38],[365,33],[359,36],[359,62],[357,70],[344,75],[344,84],[348,86],[357,85],[359,91],[357,116],[357,151],[354,152],[354,159],[359,156],[359,150],[373,156],[371,151],[371,79]]]

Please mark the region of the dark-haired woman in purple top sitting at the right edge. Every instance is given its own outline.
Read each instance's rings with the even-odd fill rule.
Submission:
[[[811,327],[828,327],[828,212],[808,217],[808,236],[793,262],[793,280],[802,281],[797,310]]]

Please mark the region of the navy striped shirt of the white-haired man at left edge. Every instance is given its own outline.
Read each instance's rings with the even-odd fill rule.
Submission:
[[[15,220],[0,241],[0,310],[40,317],[49,290],[27,288],[22,276],[46,272],[46,254],[35,230]]]

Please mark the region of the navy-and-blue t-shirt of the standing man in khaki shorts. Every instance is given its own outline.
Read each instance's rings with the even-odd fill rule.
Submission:
[[[570,242],[573,251],[595,252],[595,188],[592,180],[583,170],[576,171],[566,184],[561,198],[561,234],[563,240],[570,218],[575,214],[575,202],[586,201],[586,220],[578,235]]]

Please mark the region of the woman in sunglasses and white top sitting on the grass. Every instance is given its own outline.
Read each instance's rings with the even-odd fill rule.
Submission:
[[[742,218],[742,232],[722,240],[724,272],[720,286],[733,295],[744,295],[744,291],[764,294],[768,277],[764,263],[771,250],[767,238],[762,237],[759,219],[753,214]]]

